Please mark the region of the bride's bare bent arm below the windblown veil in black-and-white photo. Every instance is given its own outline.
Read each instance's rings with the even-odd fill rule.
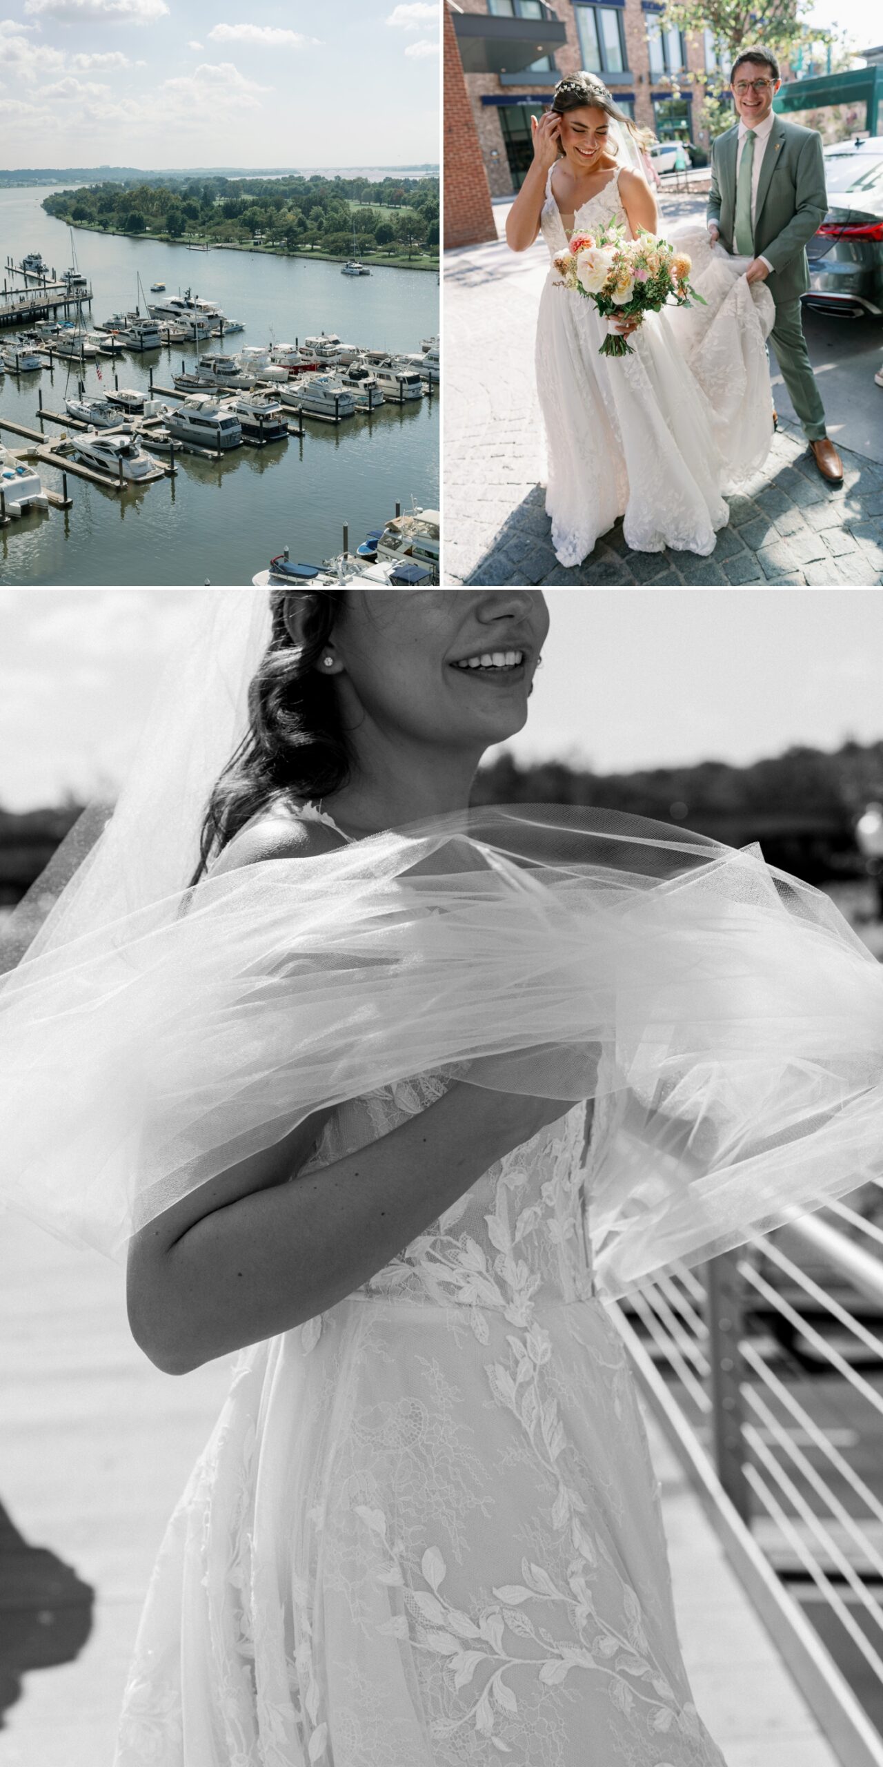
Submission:
[[[268,848],[267,832],[245,836],[237,857],[313,857],[337,845],[321,823],[300,823],[291,838],[286,848],[279,830]],[[136,1233],[127,1276],[136,1341],[157,1368],[182,1375],[300,1325],[374,1276],[496,1159],[567,1110],[456,1083],[390,1134],[297,1177],[328,1111],[309,1117]]]

